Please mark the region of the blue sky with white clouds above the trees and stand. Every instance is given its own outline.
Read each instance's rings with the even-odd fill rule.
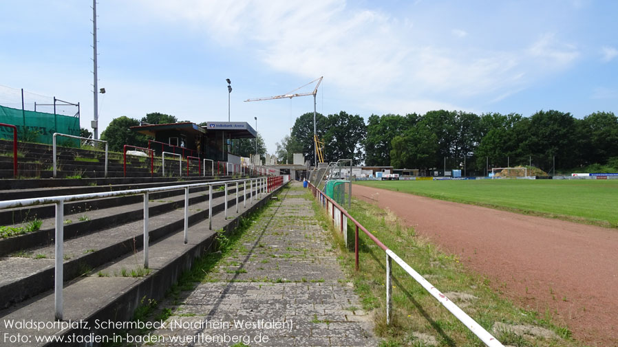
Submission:
[[[0,1],[0,104],[56,96],[92,120],[91,1]],[[100,0],[100,128],[114,117],[250,122],[270,153],[317,111],[618,113],[618,1]],[[308,87],[303,91],[311,91]],[[36,93],[39,96],[35,96]],[[28,102],[26,100],[26,102]],[[91,129],[92,130],[92,129]]]

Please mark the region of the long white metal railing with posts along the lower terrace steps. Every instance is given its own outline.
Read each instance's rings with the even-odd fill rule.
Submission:
[[[209,186],[209,229],[213,228],[213,186],[217,186],[220,184],[225,184],[227,186],[228,183],[238,183],[238,182],[246,182],[250,183],[249,194],[251,196],[251,203],[253,203],[253,181],[255,181],[255,196],[257,201],[257,195],[262,197],[262,193],[264,193],[266,177],[257,177],[253,179],[236,179],[232,181],[216,181],[216,182],[206,182],[206,183],[193,183],[193,184],[185,184],[180,186],[165,186],[165,187],[157,187],[157,188],[142,188],[142,189],[133,189],[133,190],[118,190],[116,192],[97,192],[91,194],[75,194],[75,195],[61,195],[58,197],[42,197],[42,198],[32,198],[32,199],[17,199],[17,200],[6,200],[0,201],[0,210],[5,208],[22,208],[32,205],[47,205],[47,204],[55,204],[56,205],[56,223],[55,223],[55,269],[54,269],[54,307],[55,307],[55,317],[56,320],[63,319],[63,260],[64,260],[64,250],[63,250],[63,240],[64,240],[64,203],[67,201],[83,201],[89,199],[100,199],[107,197],[119,197],[119,196],[127,196],[127,195],[136,195],[143,194],[144,195],[144,267],[148,267],[148,247],[149,247],[149,215],[148,215],[148,197],[150,193],[153,192],[164,192],[168,190],[180,190],[184,189],[184,243],[188,242],[188,229],[189,229],[189,189],[190,188],[199,188]],[[245,184],[246,186],[246,184]],[[244,197],[246,199],[246,192],[244,192]],[[238,194],[238,190],[236,190],[236,194]],[[238,201],[238,198],[236,198]],[[238,206],[238,203],[236,203]],[[227,218],[227,188],[225,192],[225,216]]]

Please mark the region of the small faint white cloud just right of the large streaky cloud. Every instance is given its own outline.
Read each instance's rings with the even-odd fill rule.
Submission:
[[[540,58],[547,66],[566,67],[579,57],[579,50],[575,45],[559,43],[555,34],[543,34],[528,49],[531,56]]]

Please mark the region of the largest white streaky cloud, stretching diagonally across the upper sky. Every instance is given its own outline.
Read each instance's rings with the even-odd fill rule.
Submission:
[[[469,49],[462,54],[420,44],[423,32],[379,10],[350,8],[344,0],[297,3],[151,1],[151,10],[202,27],[224,45],[242,45],[277,71],[303,78],[325,76],[349,93],[384,92],[397,85],[407,95],[454,91],[491,93],[517,79],[514,54]],[[232,24],[235,23],[235,24]],[[455,36],[467,33],[455,29]]]

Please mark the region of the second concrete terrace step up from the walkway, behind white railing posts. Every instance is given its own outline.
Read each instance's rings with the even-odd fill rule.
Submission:
[[[255,192],[254,192],[255,194]],[[208,200],[204,191],[191,194],[189,205],[193,209],[189,210],[189,223],[196,223],[208,218]],[[221,194],[222,195],[222,194]],[[169,233],[181,230],[184,225],[184,196],[175,197],[177,201],[163,202],[157,205],[152,201],[149,206],[151,217],[149,218],[149,230],[151,240],[166,237]],[[239,209],[242,210],[242,196],[239,197]],[[228,214],[235,210],[235,194],[228,196]],[[251,204],[250,204],[251,205]],[[142,203],[136,203],[129,212],[120,210],[130,210],[131,205],[122,208],[108,208],[105,210],[94,211],[91,221],[76,223],[74,230],[69,230],[72,225],[65,225],[65,276],[64,280],[71,280],[81,275],[85,268],[92,268],[130,253],[136,248],[142,247]],[[164,211],[158,211],[162,210]],[[224,209],[224,198],[213,199],[213,214]],[[90,212],[89,212],[90,213]],[[97,215],[98,214],[98,215]],[[46,221],[46,223],[53,223]],[[98,228],[100,232],[84,230],[83,224],[105,225]],[[114,225],[117,225],[114,227]],[[81,234],[79,230],[82,230]],[[45,233],[45,232],[43,232]],[[85,233],[85,234],[83,234]],[[53,229],[46,232],[47,236],[53,238]],[[76,236],[70,238],[71,236]],[[0,300],[0,307],[6,307],[14,302],[36,295],[41,291],[53,287],[53,262],[54,244],[45,245],[28,249],[19,254],[30,255],[37,260],[43,260],[38,264],[32,262],[32,258],[7,257],[0,261],[0,273],[8,274],[0,279],[0,291],[3,293]],[[23,260],[23,261],[22,261]],[[22,265],[23,263],[23,265]],[[37,266],[38,265],[38,266]],[[28,271],[18,271],[12,273],[14,269],[26,268]]]

